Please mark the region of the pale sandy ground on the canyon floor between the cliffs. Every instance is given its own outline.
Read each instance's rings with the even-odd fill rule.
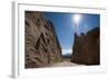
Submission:
[[[63,62],[53,64],[51,67],[72,67],[72,66],[84,66],[84,65],[77,65],[69,61],[63,61]]]

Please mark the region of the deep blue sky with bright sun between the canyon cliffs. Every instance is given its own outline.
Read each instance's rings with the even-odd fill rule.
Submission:
[[[55,27],[63,55],[72,54],[75,33],[77,35],[80,35],[80,33],[86,34],[88,31],[100,26],[99,14],[44,12],[44,16]]]

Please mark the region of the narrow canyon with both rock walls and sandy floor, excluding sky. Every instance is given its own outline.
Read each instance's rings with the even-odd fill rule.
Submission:
[[[100,64],[100,28],[87,34],[75,34],[69,60],[62,47],[54,24],[43,12],[25,11],[25,68],[67,67]],[[74,34],[74,33],[73,33]],[[65,38],[64,38],[65,41]],[[69,41],[68,41],[69,42]]]

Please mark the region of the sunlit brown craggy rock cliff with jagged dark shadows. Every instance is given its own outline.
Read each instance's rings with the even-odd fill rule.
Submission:
[[[62,61],[62,48],[54,25],[43,13],[25,11],[25,68]]]

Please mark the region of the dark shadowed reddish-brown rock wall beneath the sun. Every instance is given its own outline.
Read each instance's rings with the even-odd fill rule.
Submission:
[[[78,36],[75,34],[73,46],[72,62],[84,65],[100,64],[100,28],[96,27],[86,35]]]

